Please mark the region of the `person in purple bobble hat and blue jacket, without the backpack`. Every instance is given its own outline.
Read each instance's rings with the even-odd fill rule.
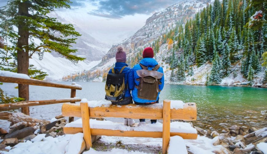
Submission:
[[[134,89],[134,75],[133,75],[133,69],[128,67],[126,64],[126,52],[123,50],[121,46],[117,48],[116,52],[116,63],[114,67],[114,71],[118,73],[122,67],[126,66],[123,70],[122,73],[124,73],[124,84],[125,84],[125,98],[122,101],[119,102],[111,102],[113,104],[118,104],[118,105],[126,105],[133,103],[133,98],[131,96],[131,90]],[[112,69],[108,72],[109,74],[112,74]],[[124,118],[124,125],[126,126],[132,126],[134,125],[135,122],[133,119],[127,119]]]

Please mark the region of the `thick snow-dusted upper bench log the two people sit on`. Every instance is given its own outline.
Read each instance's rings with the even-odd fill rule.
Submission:
[[[94,118],[114,117],[114,118],[135,118],[135,119],[162,119],[163,103],[150,105],[114,105],[107,101],[87,101],[82,99],[82,103],[88,103],[89,116]],[[196,120],[197,109],[195,103],[184,103],[182,101],[171,101],[172,120]],[[62,105],[62,115],[67,117],[81,117],[79,103],[64,103]]]

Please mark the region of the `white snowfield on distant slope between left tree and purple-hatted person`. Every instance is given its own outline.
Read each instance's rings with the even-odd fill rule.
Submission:
[[[65,75],[70,75],[84,70],[90,70],[95,67],[99,61],[80,61],[77,64],[72,63],[68,59],[54,57],[52,54],[45,52],[42,60],[39,60],[37,54],[34,54],[29,63],[33,64],[37,69],[47,72],[47,80],[62,80]]]

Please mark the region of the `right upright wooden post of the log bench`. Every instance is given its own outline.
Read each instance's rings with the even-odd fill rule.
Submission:
[[[171,101],[168,99],[163,101],[162,119],[162,154],[167,154],[171,135]]]

